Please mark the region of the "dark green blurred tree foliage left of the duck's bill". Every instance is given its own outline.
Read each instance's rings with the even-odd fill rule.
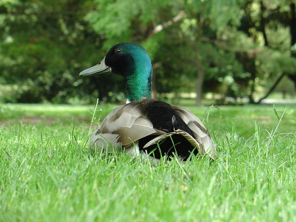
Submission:
[[[14,94],[8,101],[64,102],[75,95],[83,83],[79,70],[95,48],[83,20],[90,3],[1,1],[0,70],[13,86],[7,94]]]

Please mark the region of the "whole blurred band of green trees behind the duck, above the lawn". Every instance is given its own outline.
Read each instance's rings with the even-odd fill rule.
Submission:
[[[124,41],[158,99],[295,102],[295,24],[287,0],[1,0],[0,103],[124,102],[121,76],[79,77]]]

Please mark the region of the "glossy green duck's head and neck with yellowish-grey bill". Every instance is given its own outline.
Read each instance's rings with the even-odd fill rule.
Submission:
[[[79,75],[96,76],[111,72],[125,77],[130,102],[151,98],[152,65],[141,45],[132,42],[116,44],[101,62]]]

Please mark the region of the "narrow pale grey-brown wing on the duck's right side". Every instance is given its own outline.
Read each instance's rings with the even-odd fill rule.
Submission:
[[[205,154],[208,154],[211,158],[214,159],[216,144],[213,143],[213,140],[211,139],[209,131],[207,130],[205,125],[191,111],[177,106],[173,106],[173,108],[183,119],[183,121],[188,125],[190,130],[192,130],[195,139],[203,144],[203,150]],[[203,155],[203,150],[200,150],[200,155]]]

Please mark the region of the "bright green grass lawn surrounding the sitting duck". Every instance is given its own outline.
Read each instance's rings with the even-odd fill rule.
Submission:
[[[200,119],[207,109],[186,108]],[[295,105],[219,108],[212,164],[151,167],[89,154],[94,106],[0,104],[0,221],[295,220]]]

